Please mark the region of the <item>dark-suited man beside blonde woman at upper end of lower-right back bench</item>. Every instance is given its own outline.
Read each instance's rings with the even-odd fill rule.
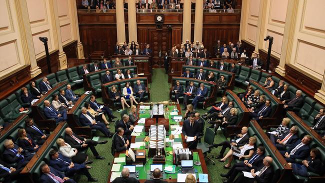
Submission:
[[[285,147],[291,147],[299,139],[296,133],[298,132],[298,126],[294,125],[281,136],[275,136],[270,134],[269,139],[275,145],[278,150],[285,150]]]

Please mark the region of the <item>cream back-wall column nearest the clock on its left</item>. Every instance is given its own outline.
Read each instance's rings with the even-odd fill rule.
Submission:
[[[134,40],[134,42],[137,44],[135,0],[128,0],[127,3],[128,42],[131,44],[131,41]]]

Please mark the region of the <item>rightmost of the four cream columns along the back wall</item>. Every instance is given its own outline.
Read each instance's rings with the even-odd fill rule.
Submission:
[[[199,44],[202,44],[202,29],[203,29],[203,0],[196,0],[193,42],[198,40]]]

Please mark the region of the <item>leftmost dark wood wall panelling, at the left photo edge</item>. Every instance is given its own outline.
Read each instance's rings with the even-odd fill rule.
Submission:
[[[11,75],[0,80],[0,100],[9,96],[14,91],[30,81],[30,66],[24,65],[22,69],[17,70]]]

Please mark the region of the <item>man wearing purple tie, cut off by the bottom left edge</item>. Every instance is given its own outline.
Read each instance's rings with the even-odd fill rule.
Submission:
[[[72,178],[65,176],[62,172],[56,170],[53,167],[43,163],[40,165],[40,170],[43,173],[40,175],[40,182],[42,183],[56,183],[56,182],[68,182],[75,183]]]

